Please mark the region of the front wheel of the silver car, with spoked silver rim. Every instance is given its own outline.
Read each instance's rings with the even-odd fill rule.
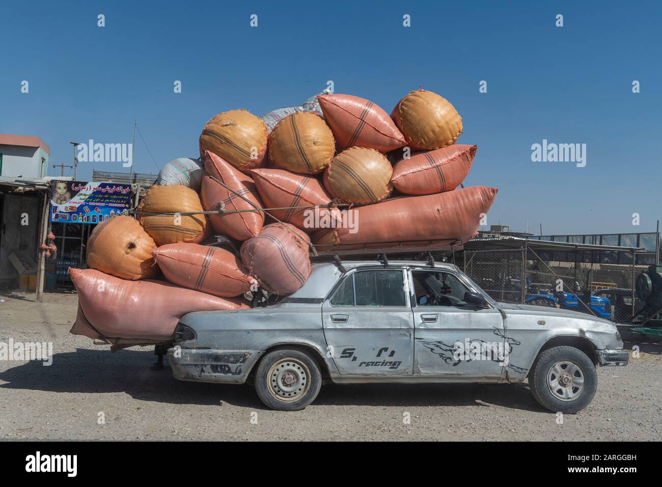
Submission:
[[[598,387],[591,359],[575,347],[553,347],[536,357],[529,374],[534,399],[550,411],[577,413],[589,406]]]

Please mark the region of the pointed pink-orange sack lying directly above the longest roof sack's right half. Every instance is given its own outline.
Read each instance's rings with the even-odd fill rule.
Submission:
[[[393,166],[391,183],[404,194],[426,195],[457,188],[469,174],[475,145],[453,144],[416,152]]]

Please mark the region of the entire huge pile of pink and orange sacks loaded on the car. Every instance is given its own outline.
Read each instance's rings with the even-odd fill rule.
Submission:
[[[201,159],[164,166],[138,221],[97,225],[90,269],[71,270],[80,296],[71,332],[169,341],[184,313],[246,307],[239,297],[258,285],[297,291],[310,275],[311,241],[333,252],[471,239],[496,189],[456,189],[476,152],[455,144],[461,132],[453,105],[422,89],[390,117],[372,101],[331,93],[264,120],[246,110],[219,113],[200,135]],[[203,245],[212,233],[240,255]]]

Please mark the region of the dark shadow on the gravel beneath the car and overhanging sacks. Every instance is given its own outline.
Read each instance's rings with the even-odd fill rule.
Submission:
[[[3,389],[40,390],[79,394],[128,394],[136,400],[166,404],[223,403],[266,409],[254,386],[182,382],[167,365],[150,370],[150,351],[78,349],[54,354],[50,366],[32,360],[0,372]],[[11,362],[10,362],[11,364]],[[329,406],[504,406],[526,411],[545,411],[525,384],[326,384],[315,404]]]

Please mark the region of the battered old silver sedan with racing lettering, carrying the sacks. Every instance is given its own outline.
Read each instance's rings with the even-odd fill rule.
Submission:
[[[452,264],[312,264],[295,294],[263,307],[184,315],[175,378],[252,380],[262,402],[295,411],[322,382],[522,382],[551,411],[592,400],[596,366],[626,365],[613,323],[575,311],[497,303]]]

